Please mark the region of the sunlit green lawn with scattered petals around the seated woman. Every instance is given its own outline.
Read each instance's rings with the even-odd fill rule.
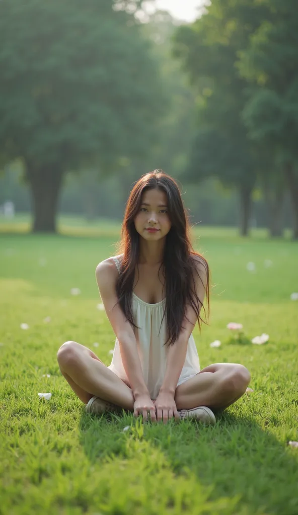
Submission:
[[[210,325],[194,331],[201,367],[242,363],[254,391],[214,427],[143,426],[87,415],[58,368],[64,341],[105,364],[114,345],[95,267],[115,254],[119,225],[84,226],[60,220],[62,235],[30,235],[28,220],[0,220],[0,514],[297,515],[298,449],[288,445],[298,440],[297,243],[261,230],[247,240],[234,229],[194,231],[213,286]],[[231,321],[243,324],[241,344]],[[261,333],[269,341],[253,345]],[[215,339],[221,347],[210,347]]]

